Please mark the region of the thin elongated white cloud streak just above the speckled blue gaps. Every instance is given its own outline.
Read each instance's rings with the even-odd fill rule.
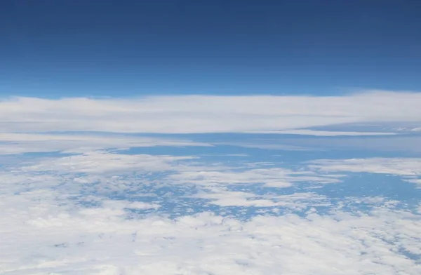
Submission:
[[[263,168],[265,164],[272,166]],[[199,156],[165,156],[150,154],[121,154],[119,152],[92,151],[72,156],[42,158],[27,162],[20,168],[13,168],[20,174],[32,173],[36,179],[40,173],[54,175],[72,174],[72,181],[89,184],[102,180],[108,175],[130,175],[168,171],[161,181],[170,185],[218,185],[262,184],[266,187],[290,187],[295,182],[317,182],[328,184],[340,182],[342,175],[326,175],[314,171],[295,171],[273,167],[273,163],[241,162],[235,166],[225,163],[204,162]],[[34,174],[36,173],[36,174]],[[79,175],[86,173],[86,175]],[[42,178],[47,175],[43,175]],[[11,177],[13,182],[25,179]]]

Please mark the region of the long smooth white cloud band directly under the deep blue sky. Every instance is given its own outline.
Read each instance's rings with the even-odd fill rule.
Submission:
[[[57,130],[210,133],[293,130],[338,123],[419,121],[421,93],[346,96],[14,98],[0,102],[4,133]]]

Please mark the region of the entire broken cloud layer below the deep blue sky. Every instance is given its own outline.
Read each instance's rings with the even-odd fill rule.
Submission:
[[[380,144],[406,132],[413,147],[416,130],[369,124],[416,129],[420,105],[420,93],[382,91],[0,101],[0,273],[421,274],[421,160],[317,151],[321,140]],[[356,173],[396,175],[389,187],[410,191],[382,192],[384,178],[345,185]]]

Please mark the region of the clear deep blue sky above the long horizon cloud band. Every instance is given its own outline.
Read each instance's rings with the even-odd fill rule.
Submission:
[[[0,1],[0,95],[421,90],[421,1]]]

